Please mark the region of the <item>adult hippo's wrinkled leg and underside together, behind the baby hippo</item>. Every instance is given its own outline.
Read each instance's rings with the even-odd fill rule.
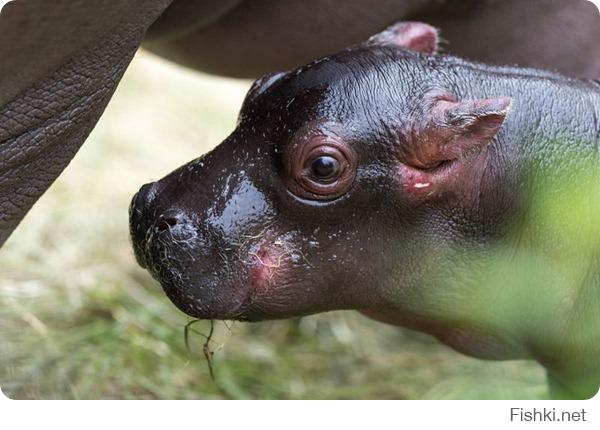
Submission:
[[[0,245],[85,141],[149,27],[159,55],[257,77],[407,19],[442,28],[468,58],[600,77],[598,14],[585,0],[10,2],[0,16]]]

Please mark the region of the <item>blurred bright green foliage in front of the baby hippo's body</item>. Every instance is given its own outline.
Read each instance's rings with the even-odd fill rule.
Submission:
[[[586,143],[590,153],[599,143]],[[438,251],[446,264],[413,304],[439,324],[532,355],[568,398],[600,385],[600,179],[586,155],[564,145],[552,169],[526,163],[538,174],[515,193],[516,222],[492,247]]]

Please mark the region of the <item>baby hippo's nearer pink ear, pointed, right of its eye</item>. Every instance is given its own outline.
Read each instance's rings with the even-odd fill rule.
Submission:
[[[404,154],[405,162],[432,169],[481,151],[502,128],[511,105],[509,97],[461,102],[452,96],[438,97],[418,127],[416,141]]]

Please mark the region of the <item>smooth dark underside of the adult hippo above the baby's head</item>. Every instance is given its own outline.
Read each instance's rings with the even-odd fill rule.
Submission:
[[[192,15],[180,14],[182,34],[173,14],[173,33],[165,20],[145,47],[210,73],[255,77],[409,20],[439,27],[449,51],[473,60],[600,77],[600,17],[587,0],[253,0],[203,28]]]

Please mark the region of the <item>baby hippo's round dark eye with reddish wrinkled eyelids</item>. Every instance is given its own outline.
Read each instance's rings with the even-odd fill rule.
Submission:
[[[333,200],[343,195],[356,177],[356,154],[331,136],[314,136],[287,153],[287,184],[298,197]]]

